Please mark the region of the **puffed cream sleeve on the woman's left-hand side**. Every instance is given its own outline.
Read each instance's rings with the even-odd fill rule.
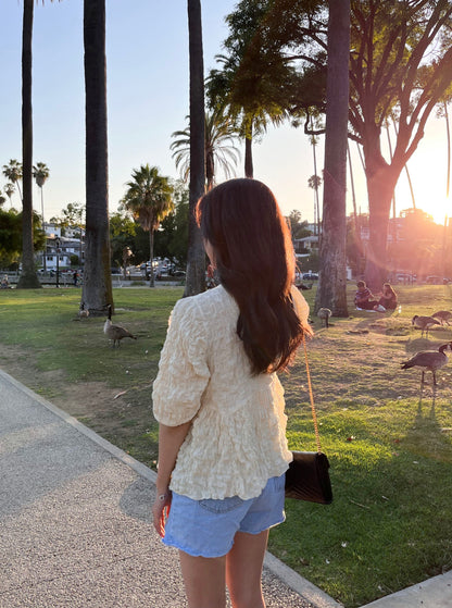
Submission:
[[[204,320],[191,298],[179,300],[170,318],[153,383],[155,419],[167,426],[190,421],[210,380]]]

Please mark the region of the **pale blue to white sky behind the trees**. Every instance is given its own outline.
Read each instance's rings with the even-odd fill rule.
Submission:
[[[237,0],[202,2],[204,73],[216,67],[215,54],[228,30],[224,22]],[[35,5],[33,39],[34,163],[45,162],[45,219],[60,215],[70,202],[85,204],[85,94],[83,0],[50,0]],[[21,52],[22,0],[0,0],[0,166],[22,160]],[[171,134],[187,126],[189,109],[188,24],[186,0],[106,0],[106,86],[109,128],[109,204],[114,212],[131,171],[149,163],[163,175],[179,177],[170,146]],[[322,138],[321,138],[322,139]],[[244,150],[236,175],[243,175]],[[367,212],[364,173],[351,142],[355,199]],[[389,148],[384,138],[384,153]],[[285,214],[298,210],[314,219],[313,154],[302,128],[268,127],[253,147],[254,177],[276,195]],[[323,167],[323,142],[316,147]],[[445,208],[447,135],[443,119],[431,117],[418,150],[409,163],[416,207],[442,223]],[[218,181],[224,177],[219,174]],[[0,189],[7,179],[0,174]],[[321,191],[322,197],[322,191]],[[322,198],[321,198],[322,201]],[[405,174],[397,190],[397,213],[412,207]],[[13,204],[20,208],[18,195]],[[448,203],[449,204],[449,203]],[[41,200],[34,186],[34,207]],[[349,176],[348,211],[352,211]],[[9,202],[5,203],[9,208]]]

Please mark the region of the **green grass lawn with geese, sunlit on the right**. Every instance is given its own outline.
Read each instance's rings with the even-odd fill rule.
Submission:
[[[450,309],[448,286],[400,287],[402,312],[353,310],[328,330],[314,320],[309,345],[332,505],[287,500],[287,522],[269,549],[347,607],[357,607],[452,568],[452,363],[420,389],[418,370],[400,370],[429,338],[413,314]],[[153,466],[151,384],[167,317],[180,288],[114,290],[116,315],[138,336],[110,348],[103,320],[76,320],[80,291],[0,291],[0,367]],[[314,290],[304,291],[313,303]],[[304,362],[281,377],[293,449],[314,449]]]

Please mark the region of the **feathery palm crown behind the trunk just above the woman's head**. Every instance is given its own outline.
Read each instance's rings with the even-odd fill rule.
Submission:
[[[204,135],[205,178],[206,188],[210,190],[215,184],[215,167],[221,166],[228,179],[235,175],[233,165],[237,165],[240,152],[234,146],[234,139],[237,137],[234,122],[217,109],[205,112]],[[180,174],[186,182],[190,175],[190,127],[175,131],[172,137],[178,137],[171,145],[171,149],[174,150],[176,167],[180,165]]]

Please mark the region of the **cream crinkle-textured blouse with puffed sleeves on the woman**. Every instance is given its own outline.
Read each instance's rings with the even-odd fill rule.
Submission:
[[[305,323],[307,303],[296,287],[292,297]],[[159,422],[192,421],[170,487],[194,500],[259,496],[292,459],[282,386],[276,373],[251,375],[237,335],[238,315],[222,286],[180,299],[153,384]]]

